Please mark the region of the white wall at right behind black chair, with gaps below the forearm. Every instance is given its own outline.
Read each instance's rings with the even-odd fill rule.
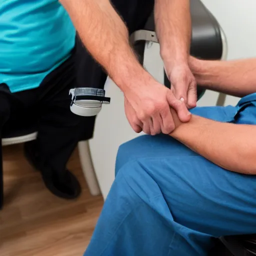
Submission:
[[[228,44],[227,59],[256,56],[256,0],[201,0],[224,30]],[[209,105],[217,95],[207,92],[199,105]],[[227,96],[225,104],[238,98]]]

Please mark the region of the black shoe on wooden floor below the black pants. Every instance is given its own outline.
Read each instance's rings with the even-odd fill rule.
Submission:
[[[68,169],[61,173],[54,171],[40,159],[35,141],[24,143],[24,155],[28,162],[40,171],[45,186],[56,196],[65,199],[77,198],[81,193],[81,186],[76,177]]]

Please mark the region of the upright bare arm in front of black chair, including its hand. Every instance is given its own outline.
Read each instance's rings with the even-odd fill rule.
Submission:
[[[188,67],[191,40],[190,0],[155,0],[155,26],[171,90],[187,107],[196,105],[196,82]]]

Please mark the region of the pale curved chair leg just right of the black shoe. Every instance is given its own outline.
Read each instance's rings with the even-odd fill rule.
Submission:
[[[91,161],[89,144],[87,140],[82,140],[78,142],[78,151],[81,168],[88,184],[90,193],[91,195],[99,195],[100,188]]]

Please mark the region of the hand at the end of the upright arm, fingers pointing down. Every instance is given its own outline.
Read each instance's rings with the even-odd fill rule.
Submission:
[[[171,91],[177,99],[183,98],[187,108],[196,106],[196,81],[186,63],[174,65],[171,69],[165,67],[171,82]]]

